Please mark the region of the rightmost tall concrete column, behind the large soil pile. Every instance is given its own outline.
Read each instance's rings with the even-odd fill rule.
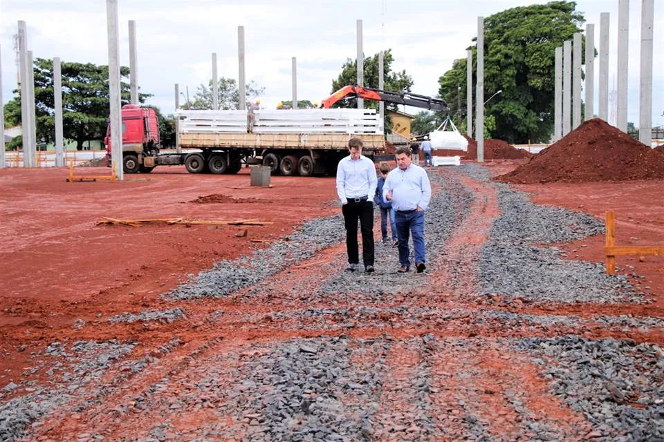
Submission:
[[[654,0],[641,0],[641,81],[638,106],[638,141],[652,143],[652,26]]]

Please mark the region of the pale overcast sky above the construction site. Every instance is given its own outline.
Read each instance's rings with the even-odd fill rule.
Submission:
[[[356,20],[362,19],[365,55],[391,48],[393,68],[412,75],[413,92],[434,96],[439,77],[454,59],[465,57],[479,15],[533,3],[546,1],[118,0],[120,62],[129,66],[127,21],[136,20],[138,84],[154,94],[150,104],[171,113],[175,83],[183,91],[189,86],[193,97],[196,86],[212,77],[212,52],[219,76],[237,79],[237,26],[244,26],[246,77],[265,88],[261,106],[291,99],[291,57],[297,57],[298,98],[320,102],[329,96],[344,61],[356,57]],[[641,1],[630,3],[628,119],[638,126]],[[664,124],[664,4],[655,3],[653,123]],[[579,0],[577,5],[587,23],[595,23],[597,47],[600,12],[611,14],[609,89],[614,88],[618,0]],[[27,23],[34,57],[108,64],[106,1],[0,0],[3,102],[16,87],[18,20]],[[595,66],[597,87],[597,59]],[[485,97],[494,92],[486,90]]]

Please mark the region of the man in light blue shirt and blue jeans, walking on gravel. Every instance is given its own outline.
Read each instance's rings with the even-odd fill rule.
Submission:
[[[409,234],[413,236],[415,268],[422,273],[427,266],[424,244],[424,213],[431,200],[431,183],[427,173],[412,159],[412,151],[407,147],[396,150],[397,168],[387,175],[382,193],[385,200],[392,202],[396,212],[396,233],[399,242],[398,273],[410,271]]]

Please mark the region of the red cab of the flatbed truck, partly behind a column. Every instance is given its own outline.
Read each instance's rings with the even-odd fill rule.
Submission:
[[[111,125],[107,127],[106,137],[107,166],[111,166]],[[159,152],[159,124],[157,114],[152,108],[142,108],[135,104],[122,106],[122,166],[128,173],[149,172],[154,168],[146,167],[143,158],[157,155]],[[147,170],[149,169],[149,170]]]

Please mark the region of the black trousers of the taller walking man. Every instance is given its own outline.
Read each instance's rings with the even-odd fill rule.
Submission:
[[[351,202],[342,206],[346,225],[346,251],[349,264],[359,264],[358,220],[362,232],[362,261],[365,266],[374,265],[374,203]]]

